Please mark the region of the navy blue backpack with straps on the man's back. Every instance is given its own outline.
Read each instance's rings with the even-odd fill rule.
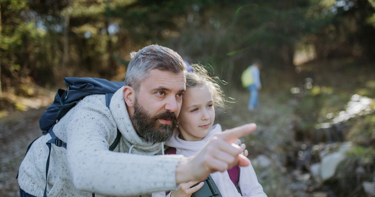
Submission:
[[[49,133],[51,135],[51,140],[46,144],[49,148],[49,154],[46,163],[46,180],[48,175],[49,167],[49,156],[51,155],[51,144],[56,146],[63,146],[66,148],[66,143],[60,140],[53,133],[53,126],[66,114],[71,108],[73,108],[81,99],[85,96],[94,94],[105,94],[105,102],[107,107],[110,106],[110,101],[113,94],[123,86],[123,82],[119,81],[108,81],[99,78],[77,78],[77,77],[66,77],[64,83],[68,86],[66,90],[58,89],[54,98],[54,102],[47,108],[43,113],[42,117],[39,119],[39,126],[42,129],[42,134],[45,135]],[[114,150],[120,141],[121,133],[117,129],[117,136],[114,143],[110,146],[109,150]],[[35,141],[35,140],[34,140]],[[34,142],[33,141],[33,142]],[[31,144],[27,147],[30,149]],[[26,151],[26,153],[27,153]],[[18,175],[17,175],[18,176]],[[44,189],[44,196],[46,196],[47,182]],[[94,196],[95,194],[93,194]]]

